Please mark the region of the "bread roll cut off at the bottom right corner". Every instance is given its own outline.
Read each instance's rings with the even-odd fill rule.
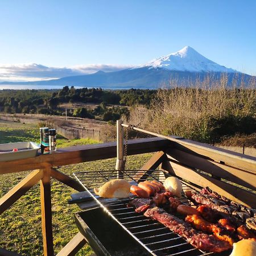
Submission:
[[[233,251],[230,256],[255,256],[256,242],[245,239],[237,243],[233,243]]]

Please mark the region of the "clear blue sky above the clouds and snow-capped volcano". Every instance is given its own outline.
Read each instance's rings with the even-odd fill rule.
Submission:
[[[191,46],[256,75],[256,1],[0,1],[0,63],[138,65]]]

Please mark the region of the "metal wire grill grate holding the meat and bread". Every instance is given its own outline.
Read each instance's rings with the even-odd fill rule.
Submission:
[[[127,207],[127,203],[134,197],[132,194],[130,194],[129,199],[102,199],[97,196],[93,188],[100,187],[106,181],[115,179],[117,177],[117,171],[86,171],[76,172],[74,175],[93,199],[152,255],[214,255],[213,253],[205,253],[204,251],[195,249],[184,238],[172,232],[158,221],[148,219],[142,213],[135,212],[133,207]],[[159,170],[123,171],[123,178],[135,185],[137,185],[138,179],[139,181],[152,179],[161,181],[166,179],[167,176],[168,174]],[[191,189],[183,183],[184,191]],[[185,204],[192,205],[192,202],[187,197],[182,197],[179,200]]]

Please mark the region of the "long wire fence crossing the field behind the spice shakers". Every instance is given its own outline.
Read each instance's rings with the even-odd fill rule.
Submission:
[[[104,134],[101,130],[92,129],[87,127],[67,127],[59,126],[57,121],[48,121],[47,118],[32,118],[32,117],[20,117],[15,115],[0,114],[0,119],[11,122],[20,122],[32,125],[45,125],[56,129],[57,133],[67,139],[93,139],[95,141],[108,142],[108,135]]]

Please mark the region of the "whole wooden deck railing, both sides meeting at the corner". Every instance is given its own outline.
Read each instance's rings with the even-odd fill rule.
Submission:
[[[0,175],[32,170],[27,177],[0,199],[0,214],[28,189],[40,182],[43,251],[44,255],[54,255],[50,180],[51,178],[57,179],[77,191],[83,189],[76,180],[57,171],[54,167],[114,158],[116,151],[116,143],[112,142],[62,148],[49,155],[0,162]],[[142,170],[152,170],[160,165],[163,172],[167,171],[180,177],[196,189],[209,186],[221,195],[256,208],[256,196],[252,192],[256,184],[256,158],[180,137],[154,137],[128,142],[127,155],[146,152],[156,153],[147,163],[144,163]],[[246,191],[233,183],[251,190]],[[58,255],[75,255],[85,242],[78,233]],[[0,249],[0,255],[7,255],[6,252]],[[9,254],[18,255],[11,254],[10,251]]]

